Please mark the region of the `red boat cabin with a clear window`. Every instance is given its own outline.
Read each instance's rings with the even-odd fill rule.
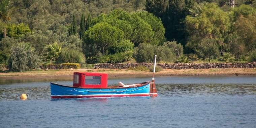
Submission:
[[[73,87],[107,88],[107,74],[74,72]]]

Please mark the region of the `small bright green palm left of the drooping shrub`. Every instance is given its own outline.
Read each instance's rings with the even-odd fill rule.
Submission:
[[[45,56],[46,59],[49,59],[51,64],[53,60],[56,61],[60,53],[61,53],[61,46],[57,42],[55,42],[53,44],[49,44],[45,46],[43,56]]]

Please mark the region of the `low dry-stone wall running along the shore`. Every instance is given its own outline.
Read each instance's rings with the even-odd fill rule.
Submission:
[[[136,66],[151,66],[151,63],[129,63],[129,64],[96,64],[94,68],[112,68],[125,69]],[[163,69],[207,69],[207,68],[256,68],[256,62],[253,63],[204,63],[204,64],[157,64]]]

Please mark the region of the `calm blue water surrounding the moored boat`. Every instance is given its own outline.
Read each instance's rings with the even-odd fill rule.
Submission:
[[[0,127],[256,127],[256,76],[159,76],[158,97],[51,99],[49,82],[0,79]],[[149,81],[111,78],[108,84]],[[22,93],[28,99],[19,99]]]

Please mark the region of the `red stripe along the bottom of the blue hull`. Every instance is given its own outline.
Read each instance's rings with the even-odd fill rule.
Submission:
[[[90,98],[90,97],[125,97],[125,96],[150,96],[150,94],[135,94],[135,95],[102,95],[102,96],[52,96],[52,98]]]

